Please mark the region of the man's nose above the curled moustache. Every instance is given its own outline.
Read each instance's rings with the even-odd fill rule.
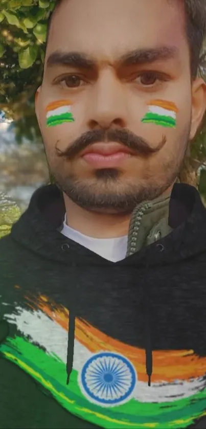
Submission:
[[[124,88],[112,70],[102,72],[89,98],[87,112],[90,129],[126,127]]]

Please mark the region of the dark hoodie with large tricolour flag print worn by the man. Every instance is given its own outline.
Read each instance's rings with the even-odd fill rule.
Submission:
[[[43,186],[0,241],[0,428],[205,428],[199,193],[137,207],[116,263],[63,236],[64,214]]]

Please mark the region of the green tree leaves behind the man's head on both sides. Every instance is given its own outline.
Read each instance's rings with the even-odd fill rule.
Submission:
[[[17,142],[26,137],[41,142],[34,110],[44,61],[47,20],[55,0],[1,0],[0,3],[0,110],[14,120]],[[204,66],[201,74],[206,79]],[[206,116],[182,164],[180,182],[197,185],[206,195]]]

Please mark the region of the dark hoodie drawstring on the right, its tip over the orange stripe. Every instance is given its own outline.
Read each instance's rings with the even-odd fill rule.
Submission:
[[[149,263],[146,265],[146,276],[148,274]],[[148,375],[148,386],[151,386],[152,376],[152,341],[151,341],[151,324],[150,324],[150,290],[146,277],[145,289],[145,354],[146,354],[146,372]]]

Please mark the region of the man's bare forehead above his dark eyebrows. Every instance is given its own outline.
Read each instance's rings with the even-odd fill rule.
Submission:
[[[189,53],[180,0],[64,0],[52,20],[46,58],[62,50],[112,61],[161,45]]]

